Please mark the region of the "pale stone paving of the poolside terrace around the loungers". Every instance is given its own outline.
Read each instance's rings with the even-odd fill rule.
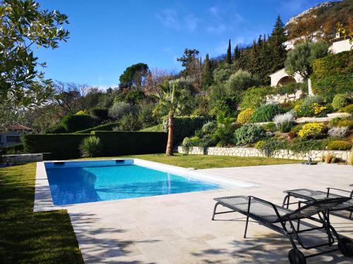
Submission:
[[[268,165],[202,170],[255,187],[198,191],[68,208],[85,263],[288,263],[288,239],[239,213],[211,216],[217,196],[254,195],[281,204],[285,189],[349,189],[349,165]],[[353,220],[332,216],[340,234],[353,238]],[[315,251],[313,251],[315,252]],[[352,263],[340,253],[308,263]]]

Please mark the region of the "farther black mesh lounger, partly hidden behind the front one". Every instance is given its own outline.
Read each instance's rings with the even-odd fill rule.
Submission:
[[[285,199],[283,200],[282,206],[286,206],[289,208],[289,204],[296,204],[298,202],[294,203],[289,203],[290,197],[298,198],[298,199],[304,199],[305,201],[316,201],[319,199],[328,199],[328,198],[342,198],[342,197],[350,197],[348,201],[345,203],[340,203],[337,206],[334,206],[333,208],[330,208],[330,211],[337,211],[337,210],[348,210],[349,213],[349,218],[352,218],[352,213],[353,213],[353,191],[346,191],[342,189],[337,189],[337,188],[327,188],[327,191],[314,191],[311,189],[294,189],[294,190],[288,190],[288,191],[283,191],[287,195],[285,196]],[[340,194],[333,194],[331,190],[335,191],[342,191],[347,193],[347,196],[342,196]],[[299,202],[300,203],[300,202]]]

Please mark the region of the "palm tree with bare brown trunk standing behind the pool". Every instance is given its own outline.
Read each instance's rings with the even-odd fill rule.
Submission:
[[[190,81],[184,78],[165,81],[159,84],[159,92],[153,94],[158,99],[155,112],[168,115],[168,141],[165,151],[167,156],[173,155],[173,133],[174,133],[174,115],[186,106],[188,90],[185,89]]]

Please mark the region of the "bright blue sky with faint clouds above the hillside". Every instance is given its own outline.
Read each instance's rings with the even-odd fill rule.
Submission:
[[[134,63],[181,70],[185,48],[204,58],[224,54],[228,39],[249,44],[270,34],[275,18],[286,22],[317,0],[40,0],[42,8],[68,15],[71,32],[59,49],[35,50],[47,62],[46,77],[102,88],[114,87]]]

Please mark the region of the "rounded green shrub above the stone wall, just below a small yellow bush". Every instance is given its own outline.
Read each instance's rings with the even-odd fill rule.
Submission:
[[[263,127],[253,124],[245,124],[234,132],[234,143],[236,145],[253,144],[266,137]]]

